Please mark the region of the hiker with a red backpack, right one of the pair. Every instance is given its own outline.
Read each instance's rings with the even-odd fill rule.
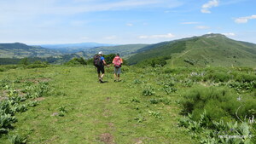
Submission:
[[[114,72],[113,72],[114,82],[116,81],[119,82],[121,66],[123,64],[123,60],[120,58],[119,53],[117,53],[116,56],[113,58],[112,63],[114,66]]]

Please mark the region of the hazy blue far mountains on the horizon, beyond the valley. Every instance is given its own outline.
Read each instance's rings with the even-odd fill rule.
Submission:
[[[95,47],[103,47],[103,46],[114,46],[114,44],[106,44],[106,43],[67,43],[67,44],[43,44],[41,47],[47,49],[55,49],[65,54],[77,53],[79,51],[83,51],[85,49],[91,49]]]

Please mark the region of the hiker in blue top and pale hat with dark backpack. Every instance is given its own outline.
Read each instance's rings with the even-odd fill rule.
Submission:
[[[94,56],[94,66],[96,66],[97,68],[98,78],[100,83],[103,83],[103,77],[105,74],[104,66],[108,66],[105,61],[105,58],[102,55],[103,53],[102,51],[100,51],[98,55]],[[101,75],[101,72],[102,72],[102,75]]]

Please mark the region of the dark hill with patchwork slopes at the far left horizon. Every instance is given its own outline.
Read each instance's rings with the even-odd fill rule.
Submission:
[[[28,46],[24,43],[0,43],[0,58],[49,57],[61,53],[40,46]]]

